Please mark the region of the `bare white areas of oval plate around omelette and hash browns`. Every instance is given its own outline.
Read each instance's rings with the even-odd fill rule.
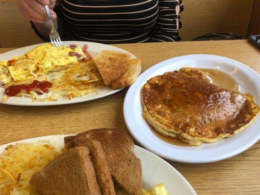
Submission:
[[[114,47],[111,45],[105,45],[101,43],[95,43],[95,42],[84,42],[84,41],[63,41],[63,45],[68,46],[69,44],[76,43],[79,46],[83,46],[84,44],[88,44],[89,49],[88,52],[92,54],[92,56],[96,55],[98,52],[101,50],[115,50],[115,51],[120,51],[123,53],[129,53],[123,49],[120,49],[118,47]],[[24,55],[26,52],[32,50],[36,46],[41,45],[41,44],[36,44],[36,45],[30,45],[27,47],[22,47],[19,49],[15,49],[9,52],[6,52],[4,54],[0,54],[0,61],[3,60],[9,60],[12,59],[13,57],[16,56],[21,56]],[[131,54],[131,58],[136,58],[133,54]],[[103,87],[101,88],[98,92],[91,93],[89,95],[83,96],[82,98],[59,98],[57,101],[32,101],[31,98],[20,98],[20,97],[10,97],[6,102],[0,101],[2,104],[11,104],[11,105],[19,105],[19,106],[48,106],[48,105],[60,105],[60,104],[71,104],[71,103],[78,103],[82,101],[89,101],[92,99],[97,99],[97,98],[102,98],[105,96],[109,96],[111,94],[114,94],[121,89],[114,90],[111,87]],[[0,100],[4,95],[4,89],[0,87]]]

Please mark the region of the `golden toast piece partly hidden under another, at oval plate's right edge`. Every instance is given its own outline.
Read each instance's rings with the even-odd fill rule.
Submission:
[[[129,59],[127,71],[116,81],[112,82],[113,89],[121,89],[123,87],[134,84],[139,76],[141,69],[140,59]]]

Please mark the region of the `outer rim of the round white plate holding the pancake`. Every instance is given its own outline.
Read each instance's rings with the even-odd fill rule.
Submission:
[[[131,119],[129,119],[128,115],[129,115],[129,108],[130,105],[128,105],[129,102],[133,103],[133,99],[136,98],[136,96],[138,95],[138,93],[140,93],[140,89],[141,86],[139,86],[139,82],[146,82],[147,79],[151,78],[151,75],[154,74],[157,70],[159,70],[160,68],[163,68],[164,66],[168,66],[170,63],[176,63],[178,61],[181,60],[187,60],[187,59],[201,59],[201,58],[217,58],[220,59],[222,61],[228,61],[228,62],[232,62],[235,63],[236,65],[234,65],[235,67],[237,67],[237,65],[239,65],[239,68],[243,71],[248,73],[248,71],[250,71],[253,74],[253,78],[260,80],[260,75],[255,72],[252,68],[250,68],[249,66],[234,60],[234,59],[230,59],[230,58],[226,58],[226,57],[222,57],[222,56],[217,56],[217,55],[210,55],[210,54],[192,54],[192,55],[184,55],[184,56],[179,56],[179,57],[175,57],[175,58],[171,58],[171,59],[166,59],[164,61],[161,61],[153,66],[151,66],[150,68],[148,68],[147,70],[145,70],[142,74],[140,74],[139,78],[137,79],[137,81],[128,89],[125,98],[124,98],[124,103],[123,103],[123,117],[124,117],[124,122],[126,124],[126,127],[128,129],[128,131],[130,132],[131,136],[134,137],[141,146],[143,146],[144,148],[146,148],[147,150],[153,152],[154,154],[161,156],[165,159],[168,160],[173,160],[173,161],[177,161],[177,162],[182,162],[182,163],[210,163],[210,162],[216,162],[216,161],[220,161],[223,159],[227,159],[233,156],[236,156],[242,152],[244,152],[245,150],[247,150],[248,148],[250,148],[251,146],[253,146],[259,139],[260,139],[260,132],[258,134],[257,137],[254,137],[253,139],[251,139],[250,142],[248,142],[247,144],[245,144],[243,147],[240,147],[240,149],[233,151],[233,152],[229,152],[226,153],[222,156],[216,156],[215,158],[211,158],[211,159],[186,159],[180,156],[169,156],[169,155],[162,155],[160,153],[160,149],[156,149],[154,147],[151,146],[151,144],[147,144],[145,141],[143,141],[143,139],[136,135],[135,131],[133,129],[136,129],[138,126],[137,125],[133,125],[131,124]],[[163,71],[162,71],[163,72]],[[165,71],[167,72],[167,71]],[[158,74],[160,75],[160,74]],[[134,94],[134,96],[132,95]],[[131,98],[130,98],[131,96]],[[129,99],[132,99],[129,100]],[[140,100],[138,100],[138,102],[140,102]],[[133,106],[133,104],[132,104]],[[133,113],[131,113],[133,114]],[[257,120],[257,118],[256,118]],[[255,120],[255,121],[256,121]],[[260,120],[260,119],[258,119]],[[254,122],[255,122],[254,121]],[[147,123],[146,123],[147,124]],[[241,132],[242,133],[242,132]],[[161,147],[163,147],[164,145],[161,144]],[[177,148],[177,150],[179,150],[179,148]]]

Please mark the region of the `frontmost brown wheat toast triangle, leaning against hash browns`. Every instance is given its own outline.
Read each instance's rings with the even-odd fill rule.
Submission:
[[[30,184],[43,195],[101,195],[86,146],[57,156],[31,178]]]

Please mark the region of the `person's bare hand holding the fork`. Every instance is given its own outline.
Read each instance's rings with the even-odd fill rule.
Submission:
[[[19,10],[24,18],[37,23],[43,23],[48,19],[43,5],[49,5],[52,19],[56,19],[53,11],[56,0],[18,0]]]

